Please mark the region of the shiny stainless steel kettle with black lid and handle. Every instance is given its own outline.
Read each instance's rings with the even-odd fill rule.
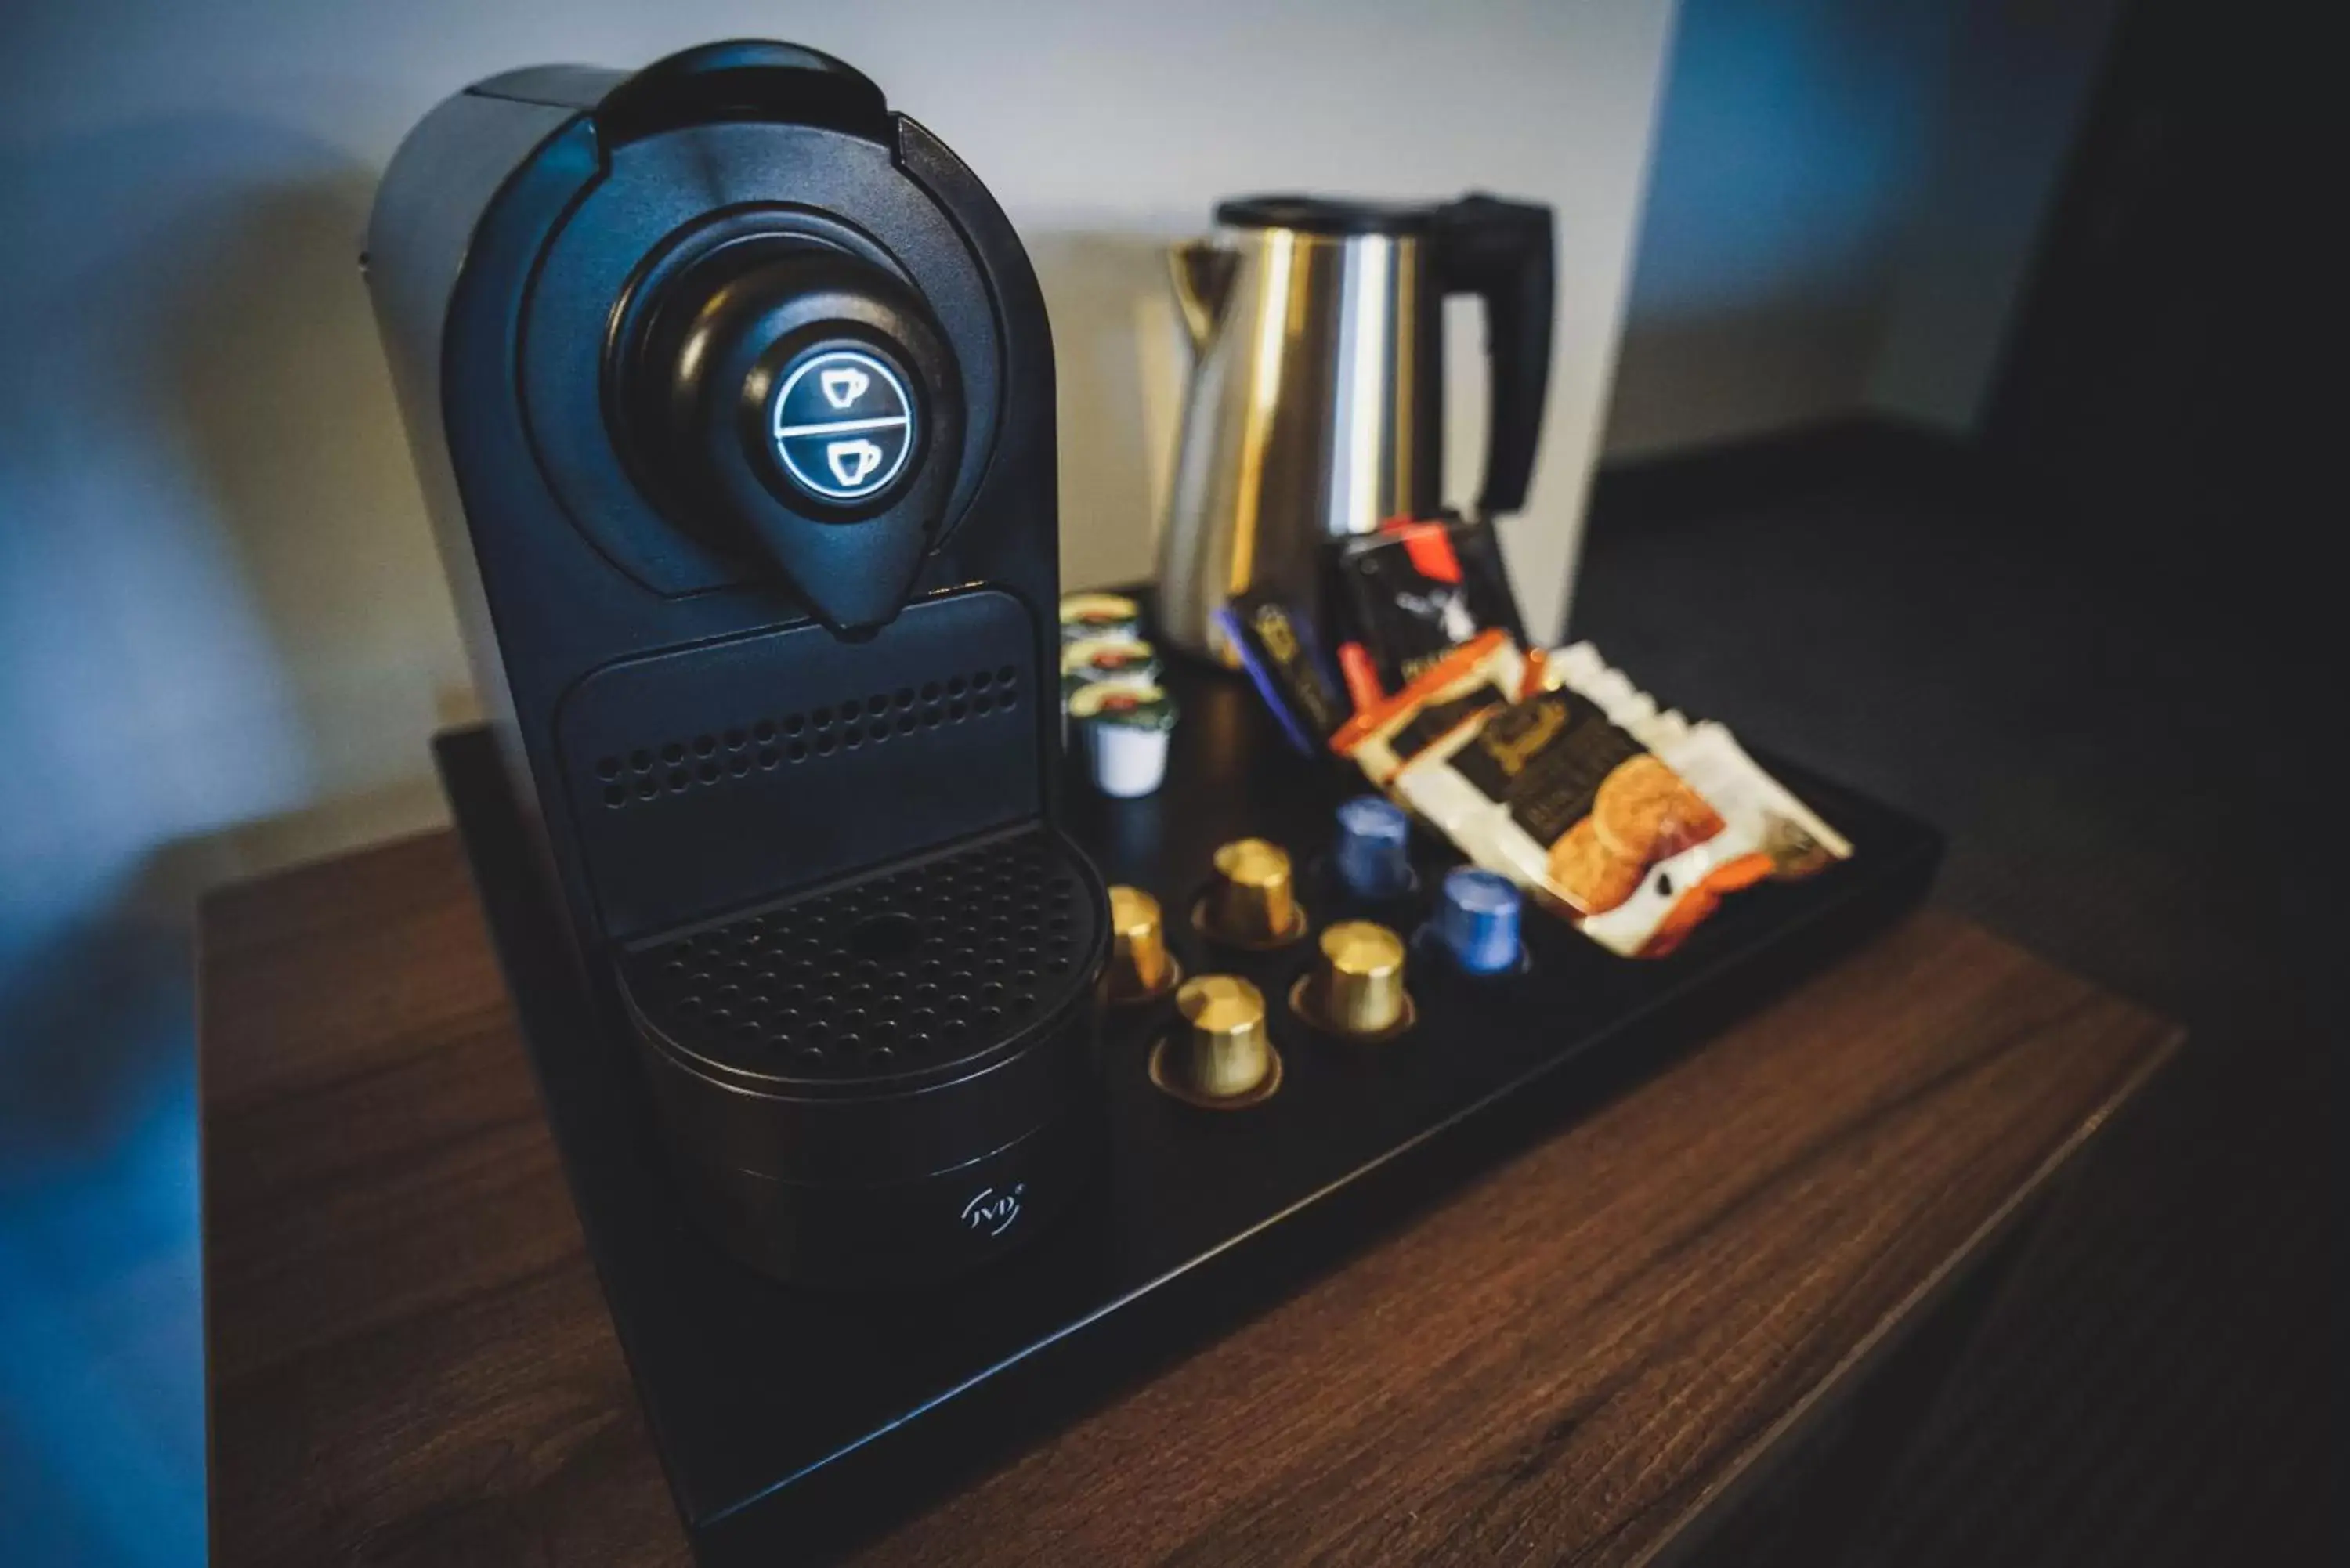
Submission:
[[[1257,195],[1168,261],[1191,331],[1159,536],[1159,630],[1222,658],[1241,592],[1318,611],[1323,541],[1443,503],[1443,301],[1485,301],[1492,421],[1478,515],[1525,503],[1551,376],[1551,209]]]

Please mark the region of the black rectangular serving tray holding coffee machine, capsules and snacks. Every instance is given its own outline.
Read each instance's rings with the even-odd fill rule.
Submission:
[[[1525,973],[1419,964],[1419,1025],[1344,1046],[1281,1006],[1307,945],[1208,964],[1184,910],[1215,844],[1243,835],[1290,846],[1311,905],[1330,809],[1358,780],[1295,757],[1236,679],[1173,682],[1168,785],[1112,802],[1072,778],[1069,825],[1109,882],[1159,896],[1189,973],[1262,985],[1281,1093],[1248,1112],[1180,1105],[1144,1072],[1163,1013],[1116,1016],[1095,1194],[1010,1260],[888,1298],[792,1291],[686,1225],[609,983],[590,992],[566,954],[489,736],[435,743],[588,1251],[705,1563],[811,1561],[907,1516],[1817,971],[1918,903],[1941,858],[1925,823],[1772,762],[1852,860],[1725,900],[1657,961],[1528,912]],[[1415,858],[1424,884],[1448,863],[1431,844]]]

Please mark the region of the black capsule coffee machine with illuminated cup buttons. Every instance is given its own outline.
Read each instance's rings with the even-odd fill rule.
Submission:
[[[1003,212],[841,61],[726,42],[449,99],[367,275],[684,1206],[825,1286],[1018,1246],[1083,1180],[1107,907],[1058,827],[1053,343]]]

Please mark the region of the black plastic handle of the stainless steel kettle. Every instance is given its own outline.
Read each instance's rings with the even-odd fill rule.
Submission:
[[[1480,517],[1516,512],[1535,477],[1542,402],[1551,386],[1551,308],[1558,299],[1551,209],[1471,193],[1436,209],[1436,277],[1445,294],[1485,301],[1492,367]]]

